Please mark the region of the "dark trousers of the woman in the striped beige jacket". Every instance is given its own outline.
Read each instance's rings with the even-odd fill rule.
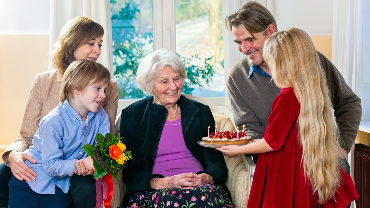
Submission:
[[[0,208],[8,208],[9,186],[11,179],[10,167],[0,164]],[[36,177],[37,180],[37,177]],[[94,208],[96,206],[95,179],[93,175],[73,175],[70,181],[70,191],[73,207]]]

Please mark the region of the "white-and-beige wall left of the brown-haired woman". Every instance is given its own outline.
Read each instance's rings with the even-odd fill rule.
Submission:
[[[33,78],[48,68],[49,5],[49,0],[0,1],[0,154],[19,135]]]

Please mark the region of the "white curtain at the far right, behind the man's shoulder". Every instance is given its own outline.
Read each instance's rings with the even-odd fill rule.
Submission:
[[[333,10],[332,62],[358,94],[360,87],[363,0],[336,0]]]

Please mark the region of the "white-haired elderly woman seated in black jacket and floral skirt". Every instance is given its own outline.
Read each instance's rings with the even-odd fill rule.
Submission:
[[[215,125],[211,110],[181,95],[185,78],[182,61],[166,49],[138,67],[138,87],[152,96],[122,110],[121,136],[132,152],[124,206],[233,207],[221,152],[197,144]]]

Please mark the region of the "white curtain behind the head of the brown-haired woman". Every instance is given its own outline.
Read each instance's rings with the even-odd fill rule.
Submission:
[[[51,0],[50,1],[50,33],[49,33],[49,70],[51,63],[51,46],[59,31],[69,20],[77,16],[85,16],[97,21],[104,28],[103,46],[98,63],[107,67],[113,73],[112,26],[110,0]]]

